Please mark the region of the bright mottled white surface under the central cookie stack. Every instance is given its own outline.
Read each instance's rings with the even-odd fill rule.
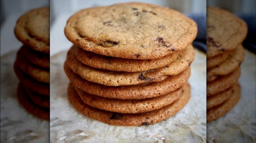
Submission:
[[[191,98],[169,119],[149,126],[115,126],[78,113],[68,102],[63,70],[66,53],[51,57],[51,142],[206,142],[206,55],[196,50],[191,64]]]

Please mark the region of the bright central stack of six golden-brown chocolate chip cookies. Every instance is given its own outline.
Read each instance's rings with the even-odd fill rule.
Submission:
[[[64,70],[80,113],[114,125],[167,119],[190,98],[196,23],[169,8],[124,3],[78,11],[65,35],[74,45]]]

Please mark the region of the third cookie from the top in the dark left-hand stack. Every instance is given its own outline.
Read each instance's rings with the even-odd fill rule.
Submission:
[[[24,73],[30,75],[33,79],[39,82],[50,83],[50,71],[30,63],[24,54],[24,48],[26,47],[19,49],[15,63]]]

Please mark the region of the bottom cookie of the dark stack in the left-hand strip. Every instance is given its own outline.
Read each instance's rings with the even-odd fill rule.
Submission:
[[[29,96],[27,95],[26,91],[24,90],[24,87],[20,83],[17,89],[18,94],[18,100],[20,104],[31,114],[45,119],[50,120],[50,109],[40,107],[33,103]]]

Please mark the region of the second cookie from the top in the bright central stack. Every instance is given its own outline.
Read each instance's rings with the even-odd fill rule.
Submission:
[[[174,52],[173,54],[170,54],[158,59],[136,60],[136,59],[124,59],[124,58],[118,58],[118,57],[112,57],[112,56],[103,56],[103,55],[95,54],[93,52],[85,51],[76,45],[73,45],[71,48],[74,49],[76,58],[80,62],[82,62],[83,64],[89,67],[110,70],[110,71],[128,71],[128,72],[147,71],[151,69],[160,68],[176,60],[180,52],[183,51],[183,50],[177,51],[177,52]]]

